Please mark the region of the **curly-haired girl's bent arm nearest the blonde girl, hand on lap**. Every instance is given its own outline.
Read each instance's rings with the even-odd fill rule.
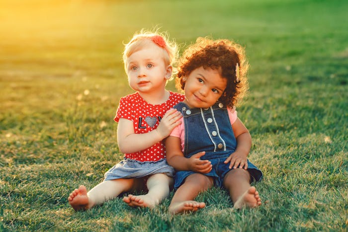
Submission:
[[[169,136],[165,140],[167,162],[178,171],[195,171],[199,173],[208,173],[211,171],[212,165],[209,160],[200,160],[199,158],[205,152],[199,152],[186,158],[181,151],[180,138]]]

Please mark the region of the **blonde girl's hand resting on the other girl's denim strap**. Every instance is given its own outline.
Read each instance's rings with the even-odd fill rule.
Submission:
[[[170,109],[161,119],[160,124],[158,125],[156,131],[160,134],[161,138],[167,138],[173,129],[180,125],[178,121],[182,117],[181,113],[176,109]]]

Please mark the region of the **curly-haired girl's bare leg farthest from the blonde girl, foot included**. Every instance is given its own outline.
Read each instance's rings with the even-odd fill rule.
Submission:
[[[229,171],[224,178],[224,186],[230,192],[233,208],[254,208],[261,205],[259,192],[254,186],[250,186],[250,174],[247,170],[237,168]]]

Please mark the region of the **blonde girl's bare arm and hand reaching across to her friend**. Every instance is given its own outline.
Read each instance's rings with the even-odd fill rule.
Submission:
[[[122,153],[139,152],[165,139],[181,122],[177,110],[169,110],[162,118],[156,130],[144,134],[135,134],[133,122],[120,118],[117,126],[117,143]]]

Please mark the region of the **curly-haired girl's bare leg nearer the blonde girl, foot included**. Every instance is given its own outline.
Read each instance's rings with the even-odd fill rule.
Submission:
[[[196,202],[194,198],[213,185],[213,179],[200,173],[194,173],[186,177],[185,182],[176,190],[169,206],[171,214],[179,214],[187,211],[197,211],[205,207],[204,202]]]

